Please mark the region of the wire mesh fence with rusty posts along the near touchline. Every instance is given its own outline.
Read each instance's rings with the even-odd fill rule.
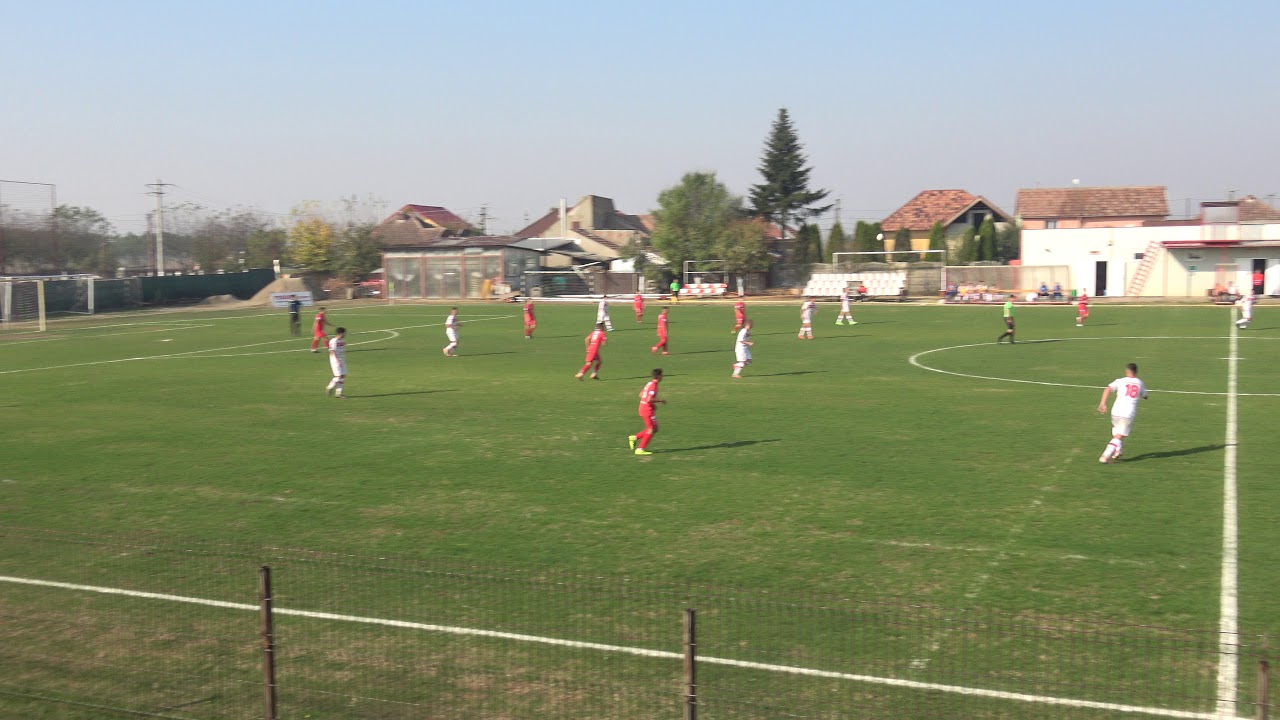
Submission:
[[[1260,641],[0,528],[0,715],[1265,717]],[[1219,697],[1219,665],[1239,687]],[[15,715],[17,714],[17,715]]]

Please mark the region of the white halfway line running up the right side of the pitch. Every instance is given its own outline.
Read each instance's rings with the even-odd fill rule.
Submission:
[[[1230,313],[1231,336],[1226,363],[1226,452],[1222,457],[1222,589],[1219,598],[1217,621],[1217,712],[1222,717],[1235,716],[1236,684],[1239,680],[1239,521],[1236,516],[1235,455],[1238,441],[1236,397],[1239,387],[1239,328],[1235,309]]]

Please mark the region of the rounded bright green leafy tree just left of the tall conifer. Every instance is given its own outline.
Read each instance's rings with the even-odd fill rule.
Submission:
[[[716,173],[686,173],[680,184],[658,193],[653,215],[653,246],[672,272],[680,272],[686,260],[716,258],[721,234],[744,215],[742,199]]]

